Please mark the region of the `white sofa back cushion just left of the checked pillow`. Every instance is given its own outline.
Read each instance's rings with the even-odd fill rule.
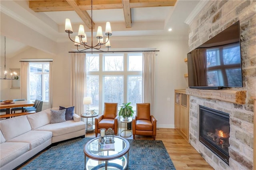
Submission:
[[[26,116],[28,118],[32,130],[50,123],[50,113],[46,113],[45,111],[41,111],[34,114],[28,114]]]

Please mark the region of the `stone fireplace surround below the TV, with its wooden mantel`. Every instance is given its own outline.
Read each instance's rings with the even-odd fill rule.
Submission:
[[[227,102],[227,97],[221,100],[218,96],[225,91],[186,89],[186,94],[190,95],[189,142],[216,170],[251,170],[253,168],[253,113],[247,105],[237,104],[235,100],[234,103]],[[245,93],[243,94],[242,98],[245,99]],[[199,141],[199,105],[230,114],[229,165]]]

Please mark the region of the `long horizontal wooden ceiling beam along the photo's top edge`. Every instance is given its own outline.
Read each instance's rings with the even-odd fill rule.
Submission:
[[[90,0],[75,0],[80,10],[90,10]],[[93,9],[123,8],[122,0],[94,0]],[[174,6],[176,0],[130,0],[130,8]],[[73,8],[65,0],[30,0],[29,8],[34,12],[72,11]]]

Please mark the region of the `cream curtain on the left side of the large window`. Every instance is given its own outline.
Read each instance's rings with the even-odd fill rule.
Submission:
[[[85,53],[71,53],[71,97],[75,113],[84,113],[83,99],[86,92],[86,64]]]

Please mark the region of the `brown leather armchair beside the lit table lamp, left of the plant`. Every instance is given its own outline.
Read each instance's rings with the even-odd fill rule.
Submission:
[[[117,135],[118,125],[118,114],[117,114],[117,103],[104,103],[103,115],[95,118],[95,136],[100,133],[100,128],[112,128],[115,135]]]

